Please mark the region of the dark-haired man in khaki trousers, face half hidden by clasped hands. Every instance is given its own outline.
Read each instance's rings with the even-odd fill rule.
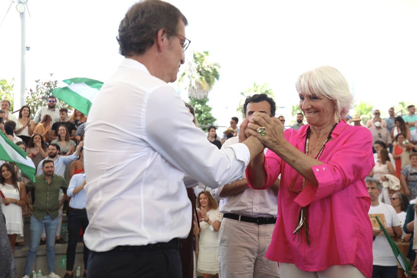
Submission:
[[[248,120],[256,111],[274,117],[275,107],[266,94],[255,94],[246,98],[244,113]],[[239,138],[232,137],[221,148],[236,143]],[[279,277],[278,264],[265,258],[276,222],[278,188],[279,180],[267,190],[249,188],[244,176],[210,189],[211,195],[220,199],[220,212],[224,213],[219,233],[219,277]]]

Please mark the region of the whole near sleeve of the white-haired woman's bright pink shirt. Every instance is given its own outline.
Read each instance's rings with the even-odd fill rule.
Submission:
[[[374,165],[372,134],[365,128],[358,128],[333,150],[327,163],[311,167],[318,186],[307,182],[294,201],[304,207],[337,193],[368,175]]]

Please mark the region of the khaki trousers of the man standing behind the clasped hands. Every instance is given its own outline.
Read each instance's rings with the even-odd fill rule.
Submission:
[[[265,258],[274,225],[223,218],[219,232],[219,277],[280,277],[278,263]]]

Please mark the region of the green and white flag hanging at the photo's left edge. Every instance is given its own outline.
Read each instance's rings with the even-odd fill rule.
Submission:
[[[15,163],[25,176],[35,182],[35,164],[28,154],[0,132],[0,160]]]

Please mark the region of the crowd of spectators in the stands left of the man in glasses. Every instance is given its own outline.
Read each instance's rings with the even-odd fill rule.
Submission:
[[[9,112],[10,102],[1,100],[0,129],[19,146],[32,160],[35,169],[35,181],[28,178],[13,162],[1,161],[0,192],[1,210],[5,219],[9,243],[1,246],[3,250],[11,248],[15,252],[16,238],[30,236],[28,257],[24,277],[30,277],[39,245],[46,244],[48,277],[55,274],[55,243],[65,243],[61,238],[61,225],[64,203],[70,197],[68,215],[67,273],[64,277],[73,277],[75,248],[80,229],[84,232],[87,225],[85,211],[85,185],[83,164],[83,131],[75,139],[77,129],[85,123],[87,117],[77,110],[68,118],[66,108],[59,109],[57,99],[51,95],[47,105],[40,108],[35,118],[30,118],[27,105],[19,110],[16,118]],[[30,216],[30,234],[23,235],[23,216]],[[12,258],[13,259],[13,258]],[[84,274],[87,277],[88,249],[84,246]],[[11,260],[13,262],[13,260]],[[0,262],[0,272],[10,273],[14,277],[13,263]],[[2,276],[3,277],[3,276]]]

